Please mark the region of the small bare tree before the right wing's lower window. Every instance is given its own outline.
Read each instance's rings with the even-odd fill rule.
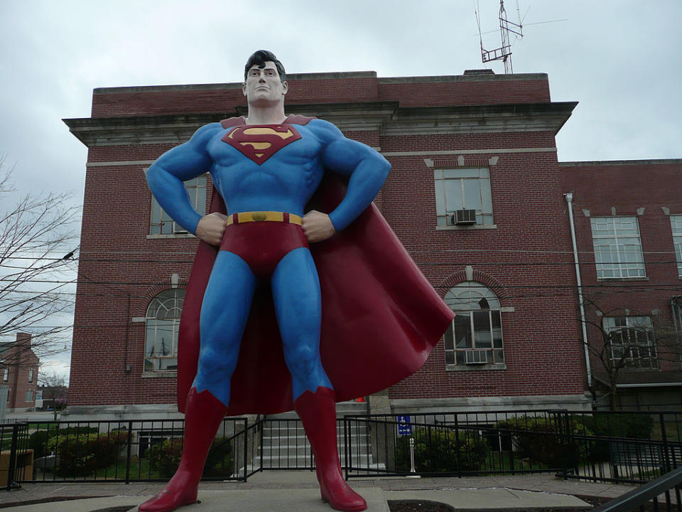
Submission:
[[[605,310],[595,297],[583,296],[585,324],[597,336],[583,341],[593,360],[602,368],[605,386],[609,393],[609,405],[615,409],[619,402],[619,377],[624,370],[632,368],[659,368],[661,362],[679,365],[682,362],[682,338],[671,324],[656,316],[623,309]],[[651,322],[633,321],[632,323],[607,324],[605,319],[649,319]],[[592,372],[600,377],[600,372]]]

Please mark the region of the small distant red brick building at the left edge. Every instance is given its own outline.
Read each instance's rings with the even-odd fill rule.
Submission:
[[[0,343],[0,385],[9,388],[9,412],[36,407],[39,367],[38,356],[31,349],[31,334],[17,333],[15,341]]]

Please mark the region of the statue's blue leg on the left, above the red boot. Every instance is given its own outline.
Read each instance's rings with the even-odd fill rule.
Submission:
[[[232,252],[220,251],[201,306],[201,348],[194,387],[197,393],[209,390],[226,406],[255,288],[256,277],[247,262]]]

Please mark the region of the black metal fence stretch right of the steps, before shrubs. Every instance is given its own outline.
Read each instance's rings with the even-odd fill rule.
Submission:
[[[679,412],[347,416],[344,432],[347,477],[544,471],[642,484],[682,467]],[[363,446],[369,446],[369,457],[359,452]]]

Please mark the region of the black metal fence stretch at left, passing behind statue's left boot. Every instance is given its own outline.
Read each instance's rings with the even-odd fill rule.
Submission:
[[[0,485],[54,481],[167,481],[183,450],[184,420],[0,425]],[[245,480],[254,443],[245,418],[226,418],[203,478]]]

